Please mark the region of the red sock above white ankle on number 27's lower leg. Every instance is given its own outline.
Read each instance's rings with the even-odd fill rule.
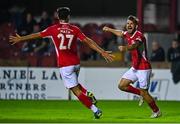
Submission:
[[[81,101],[82,104],[84,104],[87,108],[91,108],[92,106],[92,102],[91,100],[86,96],[84,95],[84,93],[81,93],[79,96],[78,96],[78,99],[79,101]]]

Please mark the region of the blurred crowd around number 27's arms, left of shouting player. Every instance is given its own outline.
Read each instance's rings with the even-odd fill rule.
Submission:
[[[56,12],[54,12],[54,14],[50,16],[46,11],[43,11],[40,16],[36,17],[34,17],[30,12],[26,12],[25,14],[17,12],[12,13],[11,19],[9,19],[8,22],[2,24],[3,26],[0,26],[1,31],[3,31],[0,38],[4,41],[3,44],[9,44],[8,36],[15,34],[15,32],[18,33],[20,36],[28,35],[31,33],[43,31],[48,26],[51,26],[56,23],[58,23]],[[112,50],[113,47],[111,46],[114,46],[117,43],[117,38],[113,34],[102,32],[102,27],[104,27],[105,25],[114,28],[114,25],[112,24],[97,25],[96,23],[88,23],[82,26],[79,23],[74,23],[74,25],[78,26],[82,30],[82,32],[84,32],[88,37],[96,41],[96,43],[104,49]],[[4,32],[5,30],[6,32]],[[20,54],[23,55],[35,54],[42,56],[54,54],[55,52],[54,45],[50,39],[37,39],[31,42],[23,42],[21,45],[17,44],[16,47],[18,48],[15,50],[16,53],[19,53],[18,51],[21,51]],[[96,52],[91,50],[86,45],[82,45],[82,43],[78,43],[78,49],[80,49],[79,54],[81,60],[86,61],[101,59]]]

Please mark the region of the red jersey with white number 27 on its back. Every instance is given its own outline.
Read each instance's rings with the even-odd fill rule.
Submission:
[[[80,29],[69,23],[59,23],[48,27],[42,37],[51,37],[56,49],[58,67],[77,65],[80,59],[77,52],[77,39],[83,41],[86,36]]]

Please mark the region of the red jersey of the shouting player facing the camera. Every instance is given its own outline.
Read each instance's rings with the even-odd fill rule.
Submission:
[[[151,64],[147,58],[146,38],[144,35],[139,31],[135,31],[133,35],[130,35],[127,31],[125,31],[124,39],[127,41],[128,45],[140,42],[140,46],[138,48],[130,51],[132,66],[137,70],[151,69]]]

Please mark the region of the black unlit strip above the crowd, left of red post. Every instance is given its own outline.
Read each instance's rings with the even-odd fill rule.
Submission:
[[[25,8],[33,15],[41,14],[42,10],[50,14],[61,6],[68,6],[73,16],[127,16],[136,14],[136,0],[2,0],[0,11],[7,13],[13,6]],[[6,15],[4,15],[6,16]]]

